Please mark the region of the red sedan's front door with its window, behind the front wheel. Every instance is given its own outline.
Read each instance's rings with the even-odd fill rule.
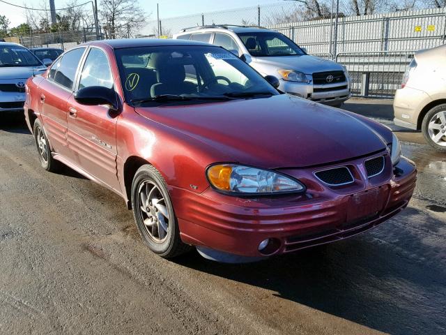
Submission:
[[[107,54],[91,47],[79,69],[77,89],[91,86],[114,88]],[[107,105],[81,105],[68,99],[68,145],[76,163],[95,179],[120,192],[116,173],[116,120]]]

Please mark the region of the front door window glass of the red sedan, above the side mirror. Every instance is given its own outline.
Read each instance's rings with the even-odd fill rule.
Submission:
[[[91,48],[86,57],[79,81],[79,89],[90,86],[113,87],[112,71],[107,55],[98,48]]]

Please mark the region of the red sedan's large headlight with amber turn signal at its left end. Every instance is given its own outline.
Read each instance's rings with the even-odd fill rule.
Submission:
[[[305,186],[284,174],[244,165],[215,164],[206,171],[209,183],[225,193],[271,194],[303,192]]]

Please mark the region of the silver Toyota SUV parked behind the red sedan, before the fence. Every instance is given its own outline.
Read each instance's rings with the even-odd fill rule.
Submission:
[[[279,78],[279,90],[326,105],[350,98],[350,77],[344,66],[310,56],[284,34],[269,29],[231,25],[183,29],[174,38],[220,45],[261,75]]]

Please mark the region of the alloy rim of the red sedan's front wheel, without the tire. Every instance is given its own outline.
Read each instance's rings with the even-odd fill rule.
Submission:
[[[149,237],[162,243],[169,232],[169,209],[160,189],[152,181],[144,181],[138,189],[139,215]]]

